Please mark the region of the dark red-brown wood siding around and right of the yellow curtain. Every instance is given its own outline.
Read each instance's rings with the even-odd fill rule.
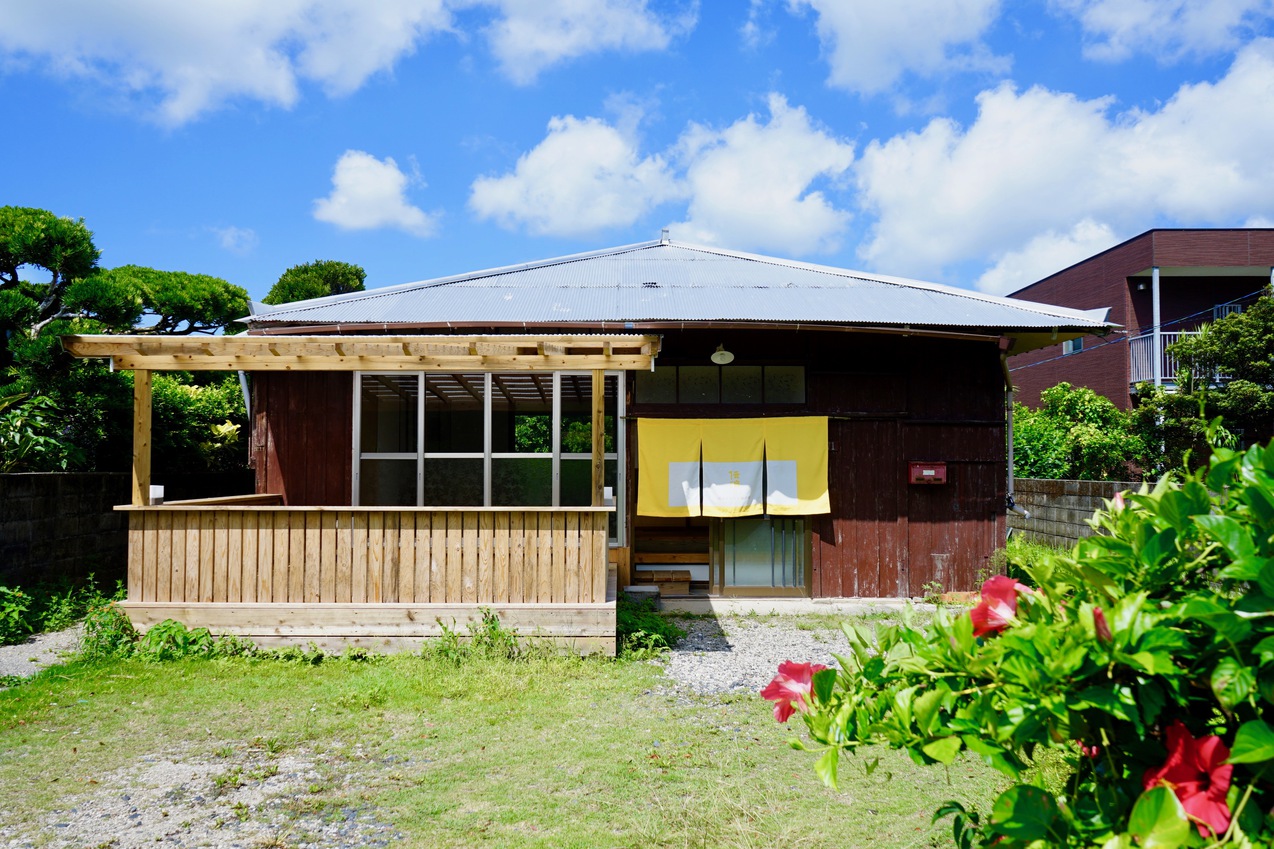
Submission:
[[[915,597],[933,580],[945,590],[976,588],[1005,529],[1004,377],[994,344],[687,331],[664,337],[660,363],[702,365],[719,343],[739,365],[804,362],[805,404],[744,410],[634,403],[629,416],[828,416],[832,510],[810,518],[814,597]],[[947,461],[950,482],[908,484],[910,460]]]

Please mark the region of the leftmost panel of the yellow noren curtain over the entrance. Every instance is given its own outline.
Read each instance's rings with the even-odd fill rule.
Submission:
[[[698,516],[702,422],[697,418],[637,419],[637,512]]]

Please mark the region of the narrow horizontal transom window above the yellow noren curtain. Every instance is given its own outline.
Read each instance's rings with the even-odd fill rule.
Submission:
[[[804,404],[804,366],[655,366],[638,371],[640,404]]]

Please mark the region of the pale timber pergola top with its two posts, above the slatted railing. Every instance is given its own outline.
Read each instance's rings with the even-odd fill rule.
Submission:
[[[659,337],[159,337],[68,335],[76,357],[108,357],[134,372],[132,504],[149,504],[152,371],[561,371],[592,372],[592,504],[603,495],[606,371],[648,370]]]

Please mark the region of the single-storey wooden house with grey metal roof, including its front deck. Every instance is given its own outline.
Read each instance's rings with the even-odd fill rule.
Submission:
[[[603,650],[632,581],[973,589],[1004,541],[1006,354],[1108,329],[668,238],[246,321],[64,342],[138,375],[135,622],[382,645],[489,607]],[[255,496],[147,502],[154,368],[250,374]]]

